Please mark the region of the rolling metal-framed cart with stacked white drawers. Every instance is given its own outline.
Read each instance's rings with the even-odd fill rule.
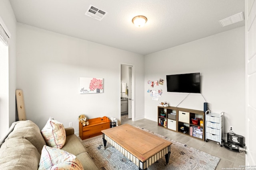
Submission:
[[[224,145],[224,112],[211,113],[210,110],[205,112],[206,117],[206,142],[208,140],[217,142],[218,145]]]

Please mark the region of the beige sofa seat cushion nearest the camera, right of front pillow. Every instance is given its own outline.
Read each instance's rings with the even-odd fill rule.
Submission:
[[[76,155],[76,158],[82,162],[84,170],[99,170],[98,166],[94,163],[94,161],[87,152]]]

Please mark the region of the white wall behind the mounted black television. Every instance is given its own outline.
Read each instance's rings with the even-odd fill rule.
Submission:
[[[157,106],[167,101],[177,106],[188,93],[166,92],[164,85],[150,88],[148,80],[166,80],[169,74],[200,72],[201,94],[189,94],[178,106],[204,110],[208,102],[211,112],[224,111],[224,133],[229,126],[245,136],[245,44],[244,27],[232,29],[197,41],[145,56],[145,118],[157,121]],[[152,100],[148,89],[163,90],[159,101]],[[203,97],[204,96],[204,97]],[[204,100],[205,98],[205,100]]]

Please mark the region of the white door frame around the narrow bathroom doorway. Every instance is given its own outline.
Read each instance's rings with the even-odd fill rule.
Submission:
[[[121,65],[126,65],[132,67],[132,121],[135,119],[135,66],[134,64],[129,63],[120,63],[119,64],[119,120],[121,122]],[[122,122],[121,122],[122,123]]]

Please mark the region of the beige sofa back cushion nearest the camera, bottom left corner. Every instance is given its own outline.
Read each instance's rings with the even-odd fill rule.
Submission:
[[[6,140],[0,148],[1,170],[37,170],[40,154],[24,138]]]

